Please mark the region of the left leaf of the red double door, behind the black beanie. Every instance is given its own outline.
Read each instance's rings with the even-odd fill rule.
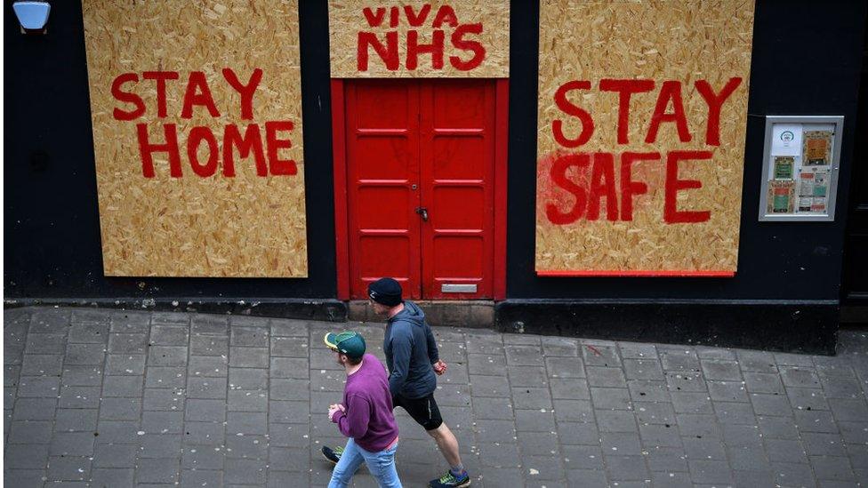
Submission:
[[[393,276],[420,298],[419,90],[414,84],[360,80],[347,84],[347,201],[350,292]]]

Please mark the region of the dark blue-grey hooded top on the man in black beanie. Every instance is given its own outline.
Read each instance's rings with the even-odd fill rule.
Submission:
[[[404,300],[404,309],[388,320],[382,350],[393,396],[422,398],[437,388],[431,367],[440,358],[437,342],[425,322],[425,313],[414,302]]]

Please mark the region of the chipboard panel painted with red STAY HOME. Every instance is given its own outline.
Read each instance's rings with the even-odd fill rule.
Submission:
[[[84,0],[84,35],[105,274],[307,276],[297,1]]]

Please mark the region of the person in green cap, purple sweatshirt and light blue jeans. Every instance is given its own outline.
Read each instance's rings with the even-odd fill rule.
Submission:
[[[358,332],[329,332],[325,345],[347,372],[343,402],[328,407],[328,419],[337,424],[342,435],[350,437],[328,487],[350,484],[365,462],[381,487],[399,488],[401,480],[395,468],[398,423],[392,414],[386,367],[376,356],[365,354],[365,339]]]

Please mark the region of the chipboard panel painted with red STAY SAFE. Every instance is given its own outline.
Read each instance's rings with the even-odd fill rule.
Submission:
[[[731,276],[753,2],[540,7],[537,273]]]

